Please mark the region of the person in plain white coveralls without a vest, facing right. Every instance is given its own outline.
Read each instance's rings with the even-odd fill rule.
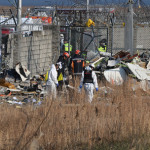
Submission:
[[[51,65],[51,69],[48,72],[48,79],[46,81],[46,91],[48,92],[48,94],[50,94],[52,96],[52,98],[56,99],[56,87],[59,86],[58,84],[58,80],[57,80],[57,69],[58,69],[59,65],[56,64],[52,64]]]

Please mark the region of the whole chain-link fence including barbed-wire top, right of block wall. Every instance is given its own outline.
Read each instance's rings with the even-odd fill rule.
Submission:
[[[134,52],[136,50],[149,50],[150,15],[148,12],[150,7],[144,1],[133,1],[133,29],[131,28],[133,37],[130,37],[129,33],[130,22],[127,22],[130,3],[128,0],[117,3],[113,0],[111,2],[103,1],[103,6],[99,5],[100,1],[92,1],[92,5],[89,5],[89,12],[86,10],[85,1],[75,2],[76,5],[72,5],[72,7],[59,8],[61,14],[57,14],[61,18],[60,24],[64,25],[64,22],[67,22],[65,28],[71,29],[71,36],[68,37],[70,31],[66,30],[65,38],[68,40],[71,38],[70,44],[73,45],[73,51],[80,49],[95,52],[99,47],[99,41],[102,39],[107,40],[108,52],[130,50],[127,45],[132,38]],[[89,18],[95,22],[94,30],[92,27],[85,27],[87,13]]]

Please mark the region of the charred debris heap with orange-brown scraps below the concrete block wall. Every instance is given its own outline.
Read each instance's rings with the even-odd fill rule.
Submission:
[[[21,63],[15,69],[4,70],[0,78],[0,103],[38,106],[44,99],[44,75],[35,75],[30,80],[30,71]]]

